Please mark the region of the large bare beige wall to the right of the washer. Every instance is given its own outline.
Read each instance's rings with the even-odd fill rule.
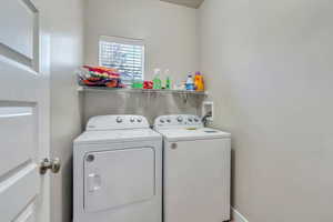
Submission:
[[[333,2],[205,0],[201,68],[250,222],[333,221]]]

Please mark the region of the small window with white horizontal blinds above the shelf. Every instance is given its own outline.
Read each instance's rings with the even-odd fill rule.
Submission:
[[[99,60],[102,67],[118,69],[124,83],[143,80],[144,42],[118,37],[101,37]]]

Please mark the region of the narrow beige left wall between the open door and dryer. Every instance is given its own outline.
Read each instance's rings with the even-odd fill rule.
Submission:
[[[51,157],[62,161],[52,176],[51,221],[72,219],[72,140],[81,130],[74,70],[82,64],[83,3],[48,2],[51,28]]]

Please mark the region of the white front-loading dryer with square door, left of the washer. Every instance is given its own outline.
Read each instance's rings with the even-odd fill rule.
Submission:
[[[161,222],[162,137],[140,115],[89,120],[74,140],[74,222]]]

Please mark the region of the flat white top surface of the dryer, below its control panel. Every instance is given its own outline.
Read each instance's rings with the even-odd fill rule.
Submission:
[[[99,144],[113,142],[161,140],[162,137],[151,129],[85,131],[74,140],[75,144]]]

